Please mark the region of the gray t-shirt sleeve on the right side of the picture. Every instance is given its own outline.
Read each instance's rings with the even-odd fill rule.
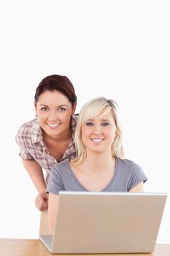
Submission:
[[[131,172],[131,182],[129,184],[128,190],[133,189],[137,184],[139,184],[142,181],[143,182],[147,181],[147,177],[145,176],[142,168],[133,162],[132,172]]]

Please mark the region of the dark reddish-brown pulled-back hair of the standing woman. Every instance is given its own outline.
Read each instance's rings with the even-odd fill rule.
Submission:
[[[35,103],[38,101],[39,96],[45,91],[60,91],[65,95],[72,106],[77,102],[77,97],[74,91],[74,86],[72,85],[69,78],[64,75],[48,75],[46,78],[42,79],[39,85],[36,87],[36,93],[34,96]]]

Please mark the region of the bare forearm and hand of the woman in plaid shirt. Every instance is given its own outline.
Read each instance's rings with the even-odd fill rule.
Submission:
[[[42,167],[35,160],[23,160],[23,166],[26,168],[28,175],[31,177],[39,195],[36,197],[36,208],[40,211],[47,209],[48,195],[45,192],[46,184],[42,173]]]

